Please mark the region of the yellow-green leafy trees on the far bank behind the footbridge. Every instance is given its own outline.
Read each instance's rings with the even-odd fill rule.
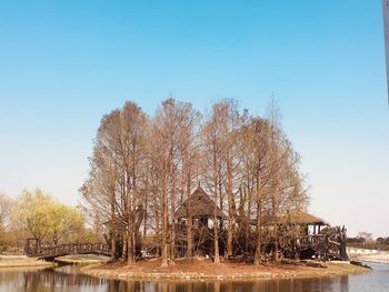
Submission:
[[[12,199],[0,193],[0,252],[20,252],[28,238],[41,244],[99,242],[82,210],[62,204],[40,189]]]

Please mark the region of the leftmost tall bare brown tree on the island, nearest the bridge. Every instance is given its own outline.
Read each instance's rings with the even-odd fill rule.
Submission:
[[[112,256],[120,236],[121,254],[129,264],[134,262],[137,210],[142,204],[138,177],[142,172],[147,125],[146,114],[133,102],[103,117],[94,142],[90,178],[81,188],[84,199],[110,222]]]

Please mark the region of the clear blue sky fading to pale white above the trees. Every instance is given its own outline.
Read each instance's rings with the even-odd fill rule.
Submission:
[[[380,0],[0,1],[0,191],[76,204],[100,119],[126,100],[262,114],[272,92],[310,211],[388,236]]]

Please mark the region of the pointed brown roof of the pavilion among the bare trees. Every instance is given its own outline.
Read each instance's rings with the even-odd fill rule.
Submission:
[[[188,207],[190,207],[190,212],[192,217],[213,217],[215,203],[211,198],[198,187],[194,192],[189,195],[189,198],[178,208],[176,211],[176,218],[187,218]],[[220,208],[216,207],[216,214],[219,218],[225,218],[223,212]]]

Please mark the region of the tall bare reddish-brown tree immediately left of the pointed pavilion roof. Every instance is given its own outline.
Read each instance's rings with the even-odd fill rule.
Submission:
[[[176,209],[178,193],[189,195],[191,184],[194,128],[197,113],[190,103],[170,98],[157,110],[152,137],[162,198],[162,265],[176,252]],[[181,172],[181,175],[180,175]],[[179,183],[181,178],[181,183]],[[182,200],[180,201],[182,203]],[[170,221],[170,224],[169,224]],[[170,226],[170,228],[169,228]],[[190,233],[190,232],[189,232]],[[189,243],[190,245],[190,243]]]

